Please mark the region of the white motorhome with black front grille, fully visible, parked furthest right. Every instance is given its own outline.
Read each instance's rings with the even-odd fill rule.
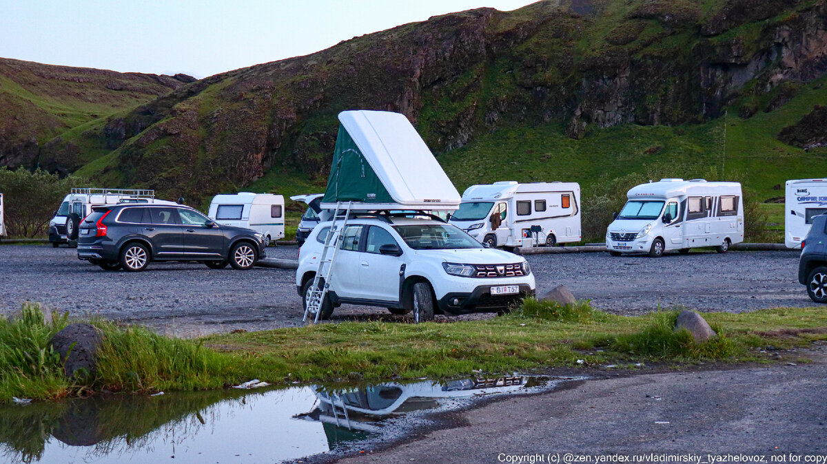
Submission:
[[[620,253],[669,250],[687,253],[696,247],[729,246],[743,242],[743,195],[738,182],[704,179],[661,179],[633,187],[629,201],[606,230],[606,249]]]

